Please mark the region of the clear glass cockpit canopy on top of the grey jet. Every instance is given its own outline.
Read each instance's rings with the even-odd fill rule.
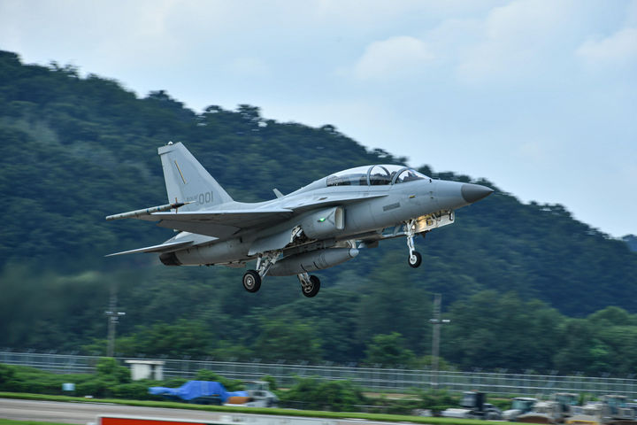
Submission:
[[[428,179],[409,166],[358,166],[327,177],[327,186],[381,186]]]

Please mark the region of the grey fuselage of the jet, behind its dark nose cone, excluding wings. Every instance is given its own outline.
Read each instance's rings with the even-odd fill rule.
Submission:
[[[467,183],[433,180],[428,177],[411,182],[381,185],[328,185],[327,178],[298,189],[284,197],[262,203],[229,202],[218,205],[211,211],[269,209],[273,207],[287,208],[289,205],[316,205],[321,199],[345,197],[354,202],[335,203],[313,206],[308,211],[299,213],[289,220],[282,221],[267,228],[244,229],[233,236],[219,238],[211,243],[189,247],[175,251],[171,261],[176,259],[180,265],[214,265],[242,264],[257,258],[257,253],[250,252],[256,241],[268,236],[276,236],[288,229],[293,229],[308,222],[308,218],[330,209],[341,209],[342,223],[334,226],[320,237],[309,238],[305,251],[325,249],[337,246],[342,241],[349,241],[369,235],[377,235],[385,228],[392,228],[401,223],[427,214],[450,213],[470,202],[463,197],[463,186]],[[320,218],[318,220],[321,220]],[[313,220],[312,220],[313,222]],[[282,250],[283,256],[303,251],[303,243],[289,246]]]

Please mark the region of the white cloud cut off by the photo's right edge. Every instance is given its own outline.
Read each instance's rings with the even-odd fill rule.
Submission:
[[[637,59],[637,28],[582,43],[575,54],[591,65],[621,65]]]

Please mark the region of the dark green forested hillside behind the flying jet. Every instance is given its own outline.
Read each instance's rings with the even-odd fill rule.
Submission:
[[[173,234],[104,220],[166,202],[158,146],[185,143],[242,201],[405,158],[366,150],[330,125],[268,120],[250,105],[196,113],[162,90],[140,98],[117,81],[24,65],[12,52],[0,52],[0,140],[0,346],[100,352],[117,286],[127,311],[122,354],[418,366],[430,350],[432,294],[441,292],[452,321],[441,350],[457,367],[637,367],[623,355],[637,350],[637,254],[561,205],[524,205],[475,181],[496,193],[418,239],[418,269],[395,240],[319,274],[317,298],[303,298],[294,277],[266,278],[248,294],[242,270],[169,268],[142,254],[104,259]]]

